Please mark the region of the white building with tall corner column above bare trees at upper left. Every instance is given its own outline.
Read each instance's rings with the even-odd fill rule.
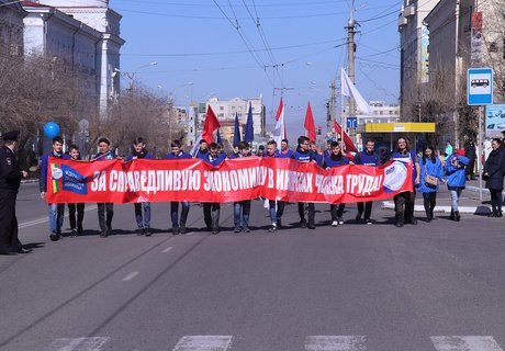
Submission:
[[[24,1],[25,54],[61,59],[72,70],[93,77],[100,117],[120,91],[121,15],[108,0]]]

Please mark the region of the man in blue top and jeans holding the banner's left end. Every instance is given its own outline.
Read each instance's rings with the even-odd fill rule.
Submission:
[[[41,189],[41,199],[46,199],[47,183],[53,179],[47,179],[47,171],[49,169],[49,157],[65,158],[70,157],[63,151],[64,140],[60,136],[53,138],[53,150],[42,156],[41,162],[41,177],[38,185]],[[57,241],[63,238],[61,227],[65,217],[65,204],[47,204],[49,208],[49,239]]]

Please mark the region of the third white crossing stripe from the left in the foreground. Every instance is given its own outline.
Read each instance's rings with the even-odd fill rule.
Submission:
[[[364,336],[308,336],[305,351],[364,351]]]

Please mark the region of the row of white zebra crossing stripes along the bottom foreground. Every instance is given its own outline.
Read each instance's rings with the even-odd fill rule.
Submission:
[[[491,336],[433,336],[428,338],[433,351],[503,351]],[[184,336],[171,351],[239,351],[233,336]],[[304,351],[367,351],[375,350],[369,346],[367,336],[307,336],[304,344],[292,350]],[[250,346],[244,348],[249,350]],[[104,351],[114,350],[113,338],[63,338],[52,342],[44,351]],[[412,350],[416,350],[413,346]],[[278,350],[276,350],[278,351]]]

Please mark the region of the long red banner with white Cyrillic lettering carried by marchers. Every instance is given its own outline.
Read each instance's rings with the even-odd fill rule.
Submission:
[[[259,196],[291,202],[351,203],[412,191],[412,163],[323,169],[292,159],[247,157],[213,167],[198,159],[130,162],[50,158],[47,202],[234,202]]]

